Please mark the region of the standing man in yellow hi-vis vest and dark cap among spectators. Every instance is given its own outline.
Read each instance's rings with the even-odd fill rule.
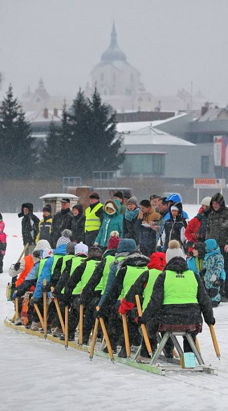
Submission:
[[[103,204],[100,202],[98,193],[93,192],[89,196],[89,207],[85,210],[85,244],[90,248],[94,241],[103,221]]]

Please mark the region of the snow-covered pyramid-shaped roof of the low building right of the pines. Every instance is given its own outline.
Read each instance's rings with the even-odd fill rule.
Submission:
[[[157,145],[186,145],[195,146],[195,144],[182,138],[172,136],[151,125],[143,127],[136,132],[129,133],[123,136],[123,145],[142,145],[142,144],[157,144]]]

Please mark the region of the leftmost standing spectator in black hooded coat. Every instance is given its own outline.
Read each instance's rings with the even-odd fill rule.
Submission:
[[[24,246],[29,244],[25,255],[31,254],[35,248],[35,239],[39,229],[40,219],[33,214],[33,204],[26,202],[22,204],[22,211],[18,214],[22,219],[22,237]]]

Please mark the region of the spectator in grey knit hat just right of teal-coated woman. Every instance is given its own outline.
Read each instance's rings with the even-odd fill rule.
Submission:
[[[123,219],[123,237],[124,238],[134,238],[138,241],[137,232],[135,225],[138,219],[140,208],[137,203],[136,197],[130,197],[127,200],[127,210]]]

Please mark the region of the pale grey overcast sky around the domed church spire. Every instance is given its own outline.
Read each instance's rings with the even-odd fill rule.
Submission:
[[[228,0],[0,0],[0,71],[21,96],[42,76],[50,95],[74,96],[110,42],[155,96],[199,88],[228,103]]]

